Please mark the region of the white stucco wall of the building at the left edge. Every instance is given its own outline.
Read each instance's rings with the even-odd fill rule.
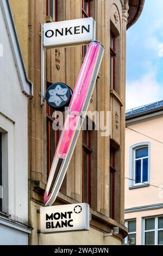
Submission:
[[[28,97],[21,90],[1,7],[0,23],[0,127],[7,132],[8,205],[10,214],[28,220]]]

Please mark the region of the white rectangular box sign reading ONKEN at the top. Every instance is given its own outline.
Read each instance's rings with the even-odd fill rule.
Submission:
[[[46,48],[89,44],[95,40],[92,17],[43,24],[43,46]]]

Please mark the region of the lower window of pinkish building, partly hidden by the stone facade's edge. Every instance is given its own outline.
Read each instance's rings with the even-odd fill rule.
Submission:
[[[125,221],[125,225],[128,228],[128,236],[123,239],[122,243],[129,243],[130,238],[134,238],[135,243],[132,245],[136,245],[136,220]]]

